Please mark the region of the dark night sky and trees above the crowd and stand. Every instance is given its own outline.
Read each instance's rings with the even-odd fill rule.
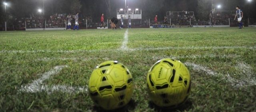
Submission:
[[[38,8],[43,8],[43,0],[0,0],[0,21],[11,18],[29,17],[38,15]],[[4,12],[3,2],[8,2],[7,13]],[[167,11],[194,11],[196,19],[208,20],[212,0],[127,0],[130,8],[142,9],[142,19],[154,18],[158,14],[160,18],[166,16]],[[244,18],[256,18],[256,0],[213,0],[214,8],[218,4],[221,9],[235,10],[240,6],[244,10]],[[116,10],[124,8],[125,0],[45,0],[45,15],[54,13],[75,14],[80,12],[83,16],[91,16],[93,21],[99,21],[100,14],[107,18],[116,16]],[[7,15],[6,15],[7,14]]]

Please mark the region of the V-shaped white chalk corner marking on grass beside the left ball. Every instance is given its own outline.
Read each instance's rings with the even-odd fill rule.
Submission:
[[[72,86],[66,86],[66,85],[53,85],[53,86],[43,85],[44,80],[47,80],[51,76],[58,74],[63,68],[66,68],[66,67],[68,66],[63,65],[63,66],[54,67],[54,69],[42,74],[42,76],[39,79],[33,80],[32,83],[27,84],[26,86],[21,86],[20,91],[31,92],[31,93],[46,91],[48,94],[54,91],[68,92],[68,93],[87,92],[87,87],[72,87]]]

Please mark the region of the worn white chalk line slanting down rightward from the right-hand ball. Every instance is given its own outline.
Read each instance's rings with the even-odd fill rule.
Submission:
[[[234,87],[241,87],[241,86],[253,86],[256,85],[256,80],[254,78],[254,80],[237,80],[232,78],[229,74],[223,75],[223,74],[219,74],[217,72],[214,72],[204,66],[198,65],[198,64],[194,64],[194,63],[190,63],[190,62],[185,62],[184,63],[186,66],[191,66],[193,70],[197,71],[197,72],[205,72],[208,75],[211,76],[218,76],[218,77],[222,77],[223,80],[227,80],[228,82],[230,82],[232,84],[232,86]]]

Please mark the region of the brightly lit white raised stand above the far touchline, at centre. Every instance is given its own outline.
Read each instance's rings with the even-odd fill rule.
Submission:
[[[131,19],[142,19],[142,10],[139,8],[136,9],[132,9],[132,8],[128,8],[128,9],[124,9],[124,8],[120,8],[118,10],[116,10],[116,17],[118,19],[121,19],[121,15],[123,15],[123,17],[125,19],[128,19],[129,16],[131,16]]]

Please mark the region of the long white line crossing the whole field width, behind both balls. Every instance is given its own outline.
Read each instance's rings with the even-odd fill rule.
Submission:
[[[128,41],[127,41],[128,42]],[[134,52],[134,51],[144,51],[144,50],[202,50],[202,49],[256,49],[256,46],[247,47],[247,46],[205,46],[205,47],[163,47],[163,48],[128,48],[127,43],[123,42],[126,46],[121,46],[121,48],[126,49],[126,51]],[[16,53],[44,53],[44,52],[58,52],[58,53],[76,53],[76,52],[119,52],[124,49],[111,49],[111,50],[2,50],[0,53],[9,53],[9,54],[16,54]]]

